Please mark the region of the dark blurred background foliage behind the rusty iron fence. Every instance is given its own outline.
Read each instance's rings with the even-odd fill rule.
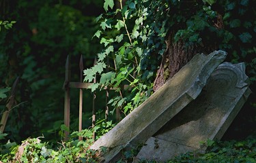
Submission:
[[[21,105],[10,112],[5,130],[8,139],[20,142],[42,133],[52,141],[59,139],[57,129],[63,124],[61,88],[66,57],[72,56],[73,72],[81,54],[86,58],[85,67],[92,65],[94,51],[100,47],[91,41],[96,26],[93,20],[102,5],[102,1],[89,0],[15,0],[3,5],[5,13],[0,14],[0,20],[16,20],[16,23],[12,30],[1,29],[0,86],[10,87],[20,76],[16,103]],[[95,10],[88,13],[88,8]],[[11,26],[10,23],[14,22],[1,22],[0,26]],[[73,74],[72,79],[78,81],[78,75]],[[90,95],[85,97],[90,98]],[[76,96],[72,95],[72,101],[74,98]],[[0,105],[2,111],[5,99]],[[72,107],[75,105],[74,100]],[[71,113],[74,121],[77,112]],[[89,119],[88,113],[85,116]],[[77,124],[72,127],[76,128]],[[89,123],[85,127],[88,126]]]

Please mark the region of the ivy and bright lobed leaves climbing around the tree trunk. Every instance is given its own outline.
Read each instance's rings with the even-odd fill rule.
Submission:
[[[186,48],[203,43],[217,44],[228,52],[229,62],[246,62],[246,73],[253,82],[255,71],[255,2],[234,1],[104,1],[105,14],[96,21],[103,50],[97,65],[84,71],[84,81],[98,81],[91,90],[115,87],[121,96],[109,103],[130,113],[150,96],[162,55],[168,48],[165,40],[174,32],[173,42],[184,40]],[[218,22],[223,21],[224,27]],[[205,47],[207,48],[207,47]],[[250,58],[250,59],[249,59]],[[122,91],[124,84],[130,85]],[[253,90],[254,91],[254,90]]]

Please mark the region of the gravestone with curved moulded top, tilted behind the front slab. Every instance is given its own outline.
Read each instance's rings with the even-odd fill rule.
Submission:
[[[167,161],[187,151],[204,151],[202,141],[221,139],[251,93],[244,69],[243,63],[219,65],[195,101],[148,139],[137,158]]]

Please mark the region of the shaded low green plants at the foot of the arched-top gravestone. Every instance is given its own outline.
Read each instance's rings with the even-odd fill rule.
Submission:
[[[211,141],[205,154],[185,153],[171,162],[256,162],[256,139]]]

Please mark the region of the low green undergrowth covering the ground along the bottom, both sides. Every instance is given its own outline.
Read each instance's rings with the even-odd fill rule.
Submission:
[[[29,138],[17,145],[7,141],[0,143],[0,162],[100,162],[102,151],[89,149],[93,140],[92,130],[73,132],[70,141],[58,143],[53,147],[43,142],[44,137]],[[4,139],[6,134],[0,134]],[[83,137],[83,141],[77,139]],[[244,141],[211,141],[205,142],[205,153],[188,152],[176,156],[173,162],[256,162],[256,138],[248,137]],[[134,150],[136,151],[136,150]],[[132,162],[137,152],[128,151],[119,162]],[[157,161],[141,160],[141,163],[158,163]]]

